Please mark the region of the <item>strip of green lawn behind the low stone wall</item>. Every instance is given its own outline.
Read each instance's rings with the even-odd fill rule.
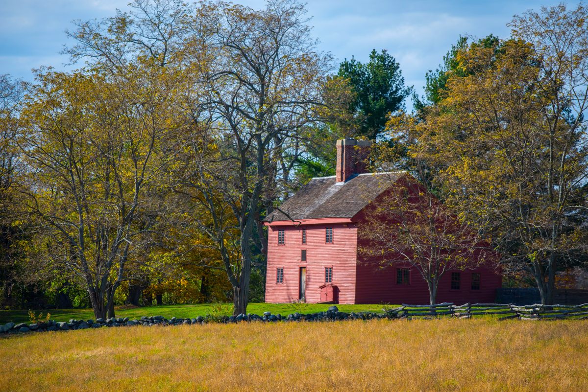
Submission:
[[[330,305],[324,304],[300,304],[292,305],[290,303],[250,303],[247,307],[248,313],[256,313],[261,315],[263,312],[272,312],[277,315],[280,313],[286,316],[289,313],[315,313],[323,312],[329,308]],[[383,305],[337,305],[341,312],[382,312]],[[129,317],[130,319],[139,319],[141,316],[163,316],[168,319],[171,317],[178,318],[193,318],[197,316],[204,316],[206,313],[223,311],[226,315],[230,315],[232,308],[230,304],[211,304],[198,303],[196,305],[163,305],[163,306],[146,306],[135,307],[132,309],[119,309],[115,311],[116,317]],[[51,313],[51,319],[56,321],[67,321],[69,319],[88,320],[94,318],[92,309],[49,309],[37,310],[39,312]],[[0,323],[8,322],[28,322],[29,315],[27,310],[0,310]]]

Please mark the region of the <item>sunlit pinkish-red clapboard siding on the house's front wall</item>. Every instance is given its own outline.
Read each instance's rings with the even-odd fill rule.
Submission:
[[[333,228],[333,243],[325,243],[325,229]],[[278,229],[284,229],[285,244],[278,245]],[[306,229],[306,244],[302,244]],[[357,228],[349,224],[268,226],[268,269],[266,302],[298,300],[300,267],[306,267],[306,302],[320,301],[320,286],[325,284],[325,268],[333,268],[332,284],[339,289],[339,303],[355,303]],[[306,249],[306,262],[300,260]],[[276,283],[276,268],[284,269],[284,282]]]

